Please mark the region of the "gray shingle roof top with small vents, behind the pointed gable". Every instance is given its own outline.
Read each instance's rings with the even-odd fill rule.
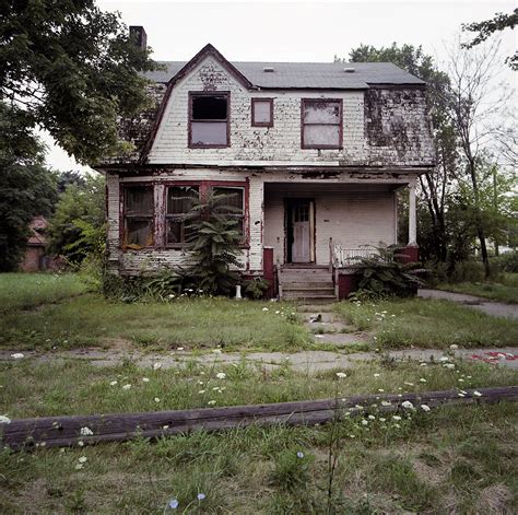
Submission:
[[[154,82],[168,82],[186,62],[161,62],[163,71],[146,73]],[[256,86],[290,89],[367,89],[369,84],[424,84],[421,79],[408,73],[391,62],[233,62]],[[264,72],[264,68],[274,72]],[[354,68],[348,73],[344,68]]]

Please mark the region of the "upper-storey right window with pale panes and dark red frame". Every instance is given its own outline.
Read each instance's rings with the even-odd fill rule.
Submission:
[[[342,101],[302,101],[302,148],[342,148]]]

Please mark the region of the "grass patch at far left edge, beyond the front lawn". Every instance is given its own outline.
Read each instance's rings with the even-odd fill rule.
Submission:
[[[59,302],[85,289],[72,273],[0,273],[0,313]]]

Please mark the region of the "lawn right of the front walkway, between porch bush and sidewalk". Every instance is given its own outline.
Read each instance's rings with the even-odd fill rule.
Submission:
[[[379,303],[341,302],[337,312],[361,330],[372,330],[379,348],[447,349],[516,346],[518,321],[497,318],[452,302],[411,299]]]

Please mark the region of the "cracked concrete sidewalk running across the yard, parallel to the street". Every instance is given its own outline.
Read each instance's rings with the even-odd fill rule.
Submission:
[[[103,351],[98,349],[71,350],[52,353],[37,353],[34,351],[22,351],[23,358],[13,358],[15,351],[0,351],[0,361],[30,360],[35,363],[56,363],[67,360],[86,361],[95,366],[116,366],[125,361],[131,361],[139,367],[153,367],[160,363],[163,368],[188,366],[192,363],[200,365],[228,365],[232,363],[246,362],[256,364],[261,368],[275,370],[290,365],[297,372],[321,372],[333,368],[350,368],[363,361],[373,361],[380,358],[376,352],[344,352],[344,351],[301,351],[287,352],[208,352],[197,354],[190,352],[173,351],[168,353],[143,353],[140,351]],[[384,358],[397,361],[415,361],[420,363],[438,361],[445,355],[438,349],[407,349],[388,351]],[[505,347],[497,349],[457,349],[455,356],[472,361],[482,361],[495,365],[502,365],[518,370],[518,347]]]

